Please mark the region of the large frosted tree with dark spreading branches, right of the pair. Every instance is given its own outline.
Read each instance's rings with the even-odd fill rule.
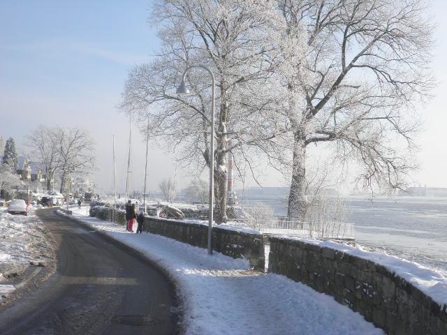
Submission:
[[[278,0],[277,8],[289,72],[281,59],[276,72],[290,92],[279,115],[290,132],[269,154],[291,170],[288,216],[303,218],[309,144],[328,144],[337,162],[355,162],[365,187],[404,186],[415,166],[414,106],[433,86],[432,24],[423,1]],[[303,29],[305,59],[288,52]]]

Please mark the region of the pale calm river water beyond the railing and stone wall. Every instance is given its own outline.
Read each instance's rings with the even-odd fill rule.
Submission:
[[[447,198],[344,200],[348,205],[346,220],[354,224],[359,244],[419,262],[447,275]],[[274,214],[287,213],[285,198],[251,197],[243,204],[254,202],[267,204]]]

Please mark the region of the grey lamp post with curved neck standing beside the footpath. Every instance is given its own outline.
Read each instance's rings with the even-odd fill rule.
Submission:
[[[186,73],[188,73],[191,68],[203,68],[210,73],[212,78],[212,96],[211,96],[211,140],[210,140],[210,209],[208,214],[208,254],[212,255],[212,221],[213,221],[213,210],[214,210],[214,90],[215,90],[215,80],[214,73],[204,65],[192,65],[184,70],[182,75],[182,82],[180,86],[177,87],[176,93],[179,95],[189,94],[189,89],[186,87],[184,80],[186,79]]]

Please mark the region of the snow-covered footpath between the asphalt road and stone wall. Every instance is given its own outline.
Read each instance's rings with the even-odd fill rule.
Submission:
[[[166,269],[183,302],[185,334],[385,334],[328,295],[277,274],[260,274],[248,262],[122,225],[73,216],[145,254]]]

